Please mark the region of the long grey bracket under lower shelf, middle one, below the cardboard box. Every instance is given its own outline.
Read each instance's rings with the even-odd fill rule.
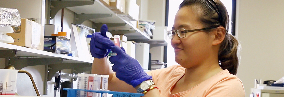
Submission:
[[[59,64],[62,62],[63,58],[23,58],[23,57],[9,58],[9,64],[13,65],[15,69],[22,69],[28,66]]]

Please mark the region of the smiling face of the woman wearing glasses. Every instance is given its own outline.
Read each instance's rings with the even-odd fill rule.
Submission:
[[[173,30],[184,28],[201,29],[204,28],[198,19],[198,13],[192,7],[182,7],[176,14]],[[175,49],[175,60],[184,68],[191,68],[202,64],[212,54],[212,37],[204,31],[186,33],[186,37],[179,38],[176,34],[171,40],[171,45]]]

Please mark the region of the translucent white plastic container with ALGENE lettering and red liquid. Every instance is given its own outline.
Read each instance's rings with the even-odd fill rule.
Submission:
[[[19,70],[0,69],[0,95],[15,95]]]

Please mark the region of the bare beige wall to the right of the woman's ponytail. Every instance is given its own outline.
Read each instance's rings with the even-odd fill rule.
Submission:
[[[265,81],[284,76],[284,1],[237,1],[237,36],[242,46],[237,76],[249,97],[255,78]]]

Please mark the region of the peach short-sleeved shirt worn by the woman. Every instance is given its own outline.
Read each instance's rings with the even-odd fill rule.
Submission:
[[[153,81],[161,89],[162,97],[245,97],[243,83],[227,69],[189,90],[172,94],[172,88],[184,73],[185,68],[179,65],[152,71]]]

